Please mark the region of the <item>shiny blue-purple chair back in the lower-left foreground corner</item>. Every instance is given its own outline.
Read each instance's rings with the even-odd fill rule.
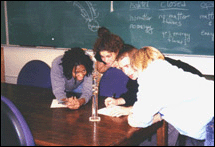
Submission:
[[[1,96],[1,146],[35,146],[21,112],[4,96]]]

